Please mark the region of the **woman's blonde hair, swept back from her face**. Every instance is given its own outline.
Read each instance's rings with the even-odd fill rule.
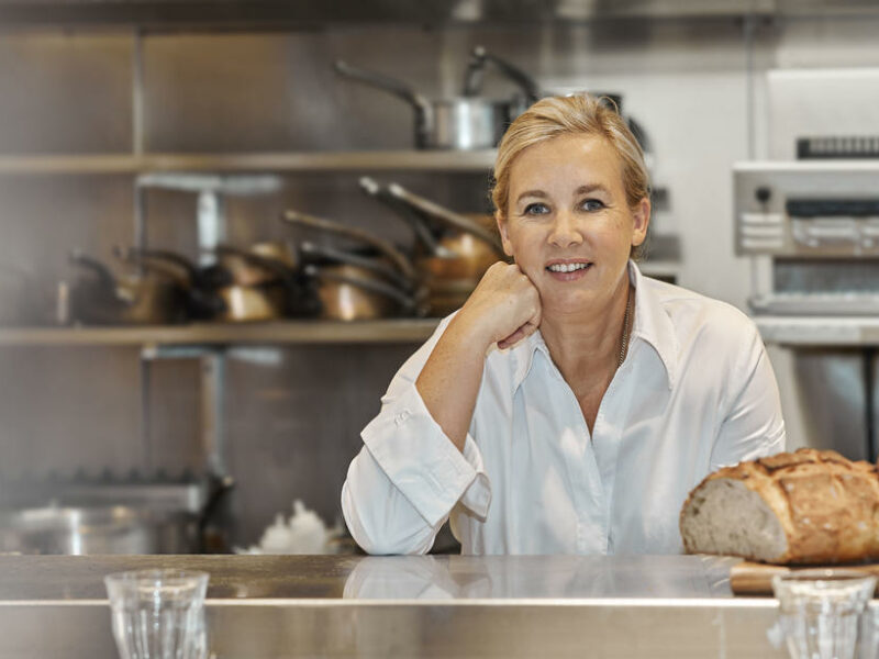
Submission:
[[[501,217],[507,217],[510,169],[513,161],[527,147],[559,135],[604,137],[620,156],[628,206],[634,208],[642,199],[649,197],[650,178],[644,161],[644,152],[611,99],[596,98],[586,92],[548,97],[520,114],[510,124],[498,146],[491,201]]]

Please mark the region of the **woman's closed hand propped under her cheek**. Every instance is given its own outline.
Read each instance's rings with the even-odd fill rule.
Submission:
[[[460,323],[476,328],[486,348],[508,348],[534,334],[541,324],[541,297],[516,265],[497,263],[458,313]]]

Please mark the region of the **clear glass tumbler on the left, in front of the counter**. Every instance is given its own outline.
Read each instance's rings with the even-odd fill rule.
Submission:
[[[122,659],[204,659],[208,573],[137,570],[104,577]]]

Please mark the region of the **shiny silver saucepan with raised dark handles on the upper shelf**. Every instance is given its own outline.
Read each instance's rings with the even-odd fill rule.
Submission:
[[[487,64],[498,67],[521,93],[500,100],[481,97],[482,71]],[[341,59],[333,68],[341,76],[390,92],[412,105],[415,148],[422,149],[491,148],[500,142],[510,122],[539,96],[537,85],[525,72],[488,54],[481,46],[474,49],[463,96],[453,98],[427,99],[405,82]]]

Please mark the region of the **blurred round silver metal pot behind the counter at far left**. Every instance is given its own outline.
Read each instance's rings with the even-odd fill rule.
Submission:
[[[88,555],[199,550],[199,516],[187,511],[101,505],[0,513],[0,551]]]

